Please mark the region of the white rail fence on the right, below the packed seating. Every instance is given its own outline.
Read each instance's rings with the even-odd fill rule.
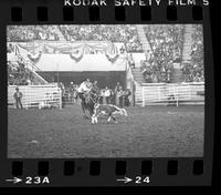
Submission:
[[[143,83],[136,89],[136,104],[204,104],[204,82],[196,83]]]

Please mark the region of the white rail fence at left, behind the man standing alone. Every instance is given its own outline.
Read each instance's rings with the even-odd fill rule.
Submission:
[[[8,86],[8,107],[15,109],[13,94],[17,85]],[[22,93],[21,103],[24,109],[62,109],[62,91],[54,84],[46,85],[20,85],[19,91]]]

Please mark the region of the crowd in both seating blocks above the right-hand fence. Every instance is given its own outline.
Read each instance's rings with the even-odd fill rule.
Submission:
[[[182,64],[185,82],[204,81],[202,25],[192,25],[192,48],[190,63]],[[141,61],[141,72],[146,82],[171,82],[173,63],[181,62],[185,25],[155,24],[145,27],[151,51]]]

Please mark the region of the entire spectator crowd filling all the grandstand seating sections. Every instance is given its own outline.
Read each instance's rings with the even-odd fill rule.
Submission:
[[[185,82],[204,81],[203,72],[203,34],[202,25],[192,25],[191,62],[182,64]],[[8,41],[59,40],[63,34],[66,41],[112,41],[124,42],[125,52],[144,52],[135,25],[9,25]],[[171,82],[173,63],[182,58],[185,25],[151,24],[144,27],[150,50],[146,51],[146,60],[140,62],[140,71],[146,82]],[[8,45],[8,52],[12,52]],[[135,68],[133,60],[129,64]],[[27,82],[25,69],[21,62],[9,64],[9,79]],[[18,72],[17,72],[18,71]]]

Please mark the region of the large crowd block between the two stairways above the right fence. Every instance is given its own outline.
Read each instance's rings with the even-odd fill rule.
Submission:
[[[151,48],[140,65],[146,82],[171,82],[173,63],[181,61],[183,27],[155,24],[144,30]]]

